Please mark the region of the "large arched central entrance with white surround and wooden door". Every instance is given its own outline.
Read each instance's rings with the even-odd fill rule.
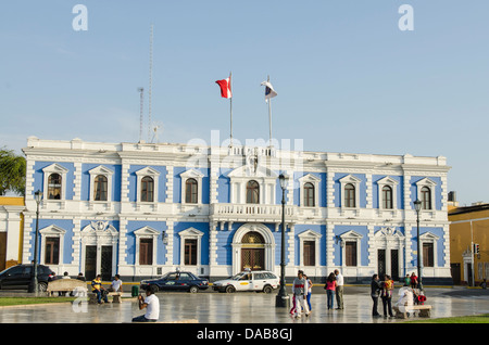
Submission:
[[[275,240],[262,223],[246,223],[233,238],[233,274],[244,269],[275,270]]]

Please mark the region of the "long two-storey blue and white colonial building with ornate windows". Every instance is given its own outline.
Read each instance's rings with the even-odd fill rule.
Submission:
[[[451,282],[444,157],[264,146],[98,143],[28,138],[23,261],[59,274],[138,281],[170,270],[212,280],[246,268],[347,282],[416,271],[423,202],[424,282]]]

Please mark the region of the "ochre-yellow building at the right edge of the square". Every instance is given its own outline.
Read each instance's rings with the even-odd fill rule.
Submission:
[[[478,285],[489,276],[489,204],[449,207],[448,218],[453,283]]]

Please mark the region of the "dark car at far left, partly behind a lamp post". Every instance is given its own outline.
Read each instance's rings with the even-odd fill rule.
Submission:
[[[33,279],[34,265],[16,265],[0,272],[1,290],[28,290]],[[48,288],[51,269],[48,266],[37,265],[37,281],[39,291]]]

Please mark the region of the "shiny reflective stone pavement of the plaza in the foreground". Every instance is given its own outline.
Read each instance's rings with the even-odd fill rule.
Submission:
[[[217,292],[156,293],[160,298],[160,321],[241,324],[305,324],[305,323],[399,323],[396,318],[373,318],[368,286],[346,286],[344,309],[327,310],[326,294],[317,288],[312,295],[312,315],[293,319],[289,310],[275,307],[276,292],[234,293]],[[489,312],[487,290],[466,288],[426,288],[427,302],[432,306],[431,318],[467,316]],[[398,299],[396,290],[392,303]],[[288,293],[290,290],[288,289]],[[0,292],[0,296],[7,295]],[[128,293],[130,295],[130,293]],[[62,297],[53,297],[62,298]],[[335,302],[336,307],[336,302]],[[378,311],[383,312],[381,303]],[[121,304],[88,305],[78,303],[1,307],[0,323],[127,323],[142,315],[136,298],[123,298]],[[417,317],[415,317],[417,318]],[[414,318],[410,318],[414,319]]]

